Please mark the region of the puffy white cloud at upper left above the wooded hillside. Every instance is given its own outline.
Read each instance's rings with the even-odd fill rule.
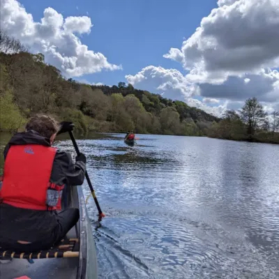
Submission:
[[[1,0],[0,26],[31,47],[33,52],[45,54],[45,60],[67,77],[78,77],[101,70],[118,70],[100,52],[88,50],[75,34],[90,33],[89,17],[66,17],[53,8],[46,8],[40,22],[15,0]]]

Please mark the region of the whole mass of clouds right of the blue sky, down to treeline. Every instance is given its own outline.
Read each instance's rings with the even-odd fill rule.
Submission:
[[[181,49],[172,47],[164,55],[181,63],[185,76],[149,66],[128,78],[142,88],[165,91],[169,98],[180,93],[189,105],[216,115],[239,109],[252,96],[270,112],[279,107],[279,73],[272,70],[279,68],[278,45],[278,0],[219,0]],[[149,73],[154,69],[155,77]],[[164,73],[170,71],[179,79],[171,74],[166,82]]]

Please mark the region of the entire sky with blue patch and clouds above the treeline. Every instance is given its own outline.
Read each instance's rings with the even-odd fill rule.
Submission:
[[[1,0],[0,27],[66,78],[217,116],[253,96],[279,110],[278,0]]]

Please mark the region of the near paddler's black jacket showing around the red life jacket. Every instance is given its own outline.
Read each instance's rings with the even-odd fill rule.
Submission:
[[[12,145],[40,144],[50,146],[50,140],[40,134],[29,131],[17,133],[4,149],[4,159]],[[52,166],[50,181],[66,186],[82,185],[86,172],[85,163],[77,161],[75,164],[69,153],[57,151]],[[5,174],[4,174],[5,175]],[[19,209],[8,204],[0,204],[0,241],[43,241],[56,234],[58,223],[56,211],[36,211]]]

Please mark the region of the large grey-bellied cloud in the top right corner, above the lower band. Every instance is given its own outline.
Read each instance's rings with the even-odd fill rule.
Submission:
[[[279,67],[279,1],[218,1],[200,27],[166,58],[190,71],[190,82],[222,83],[228,76]],[[229,5],[229,6],[227,6]]]

